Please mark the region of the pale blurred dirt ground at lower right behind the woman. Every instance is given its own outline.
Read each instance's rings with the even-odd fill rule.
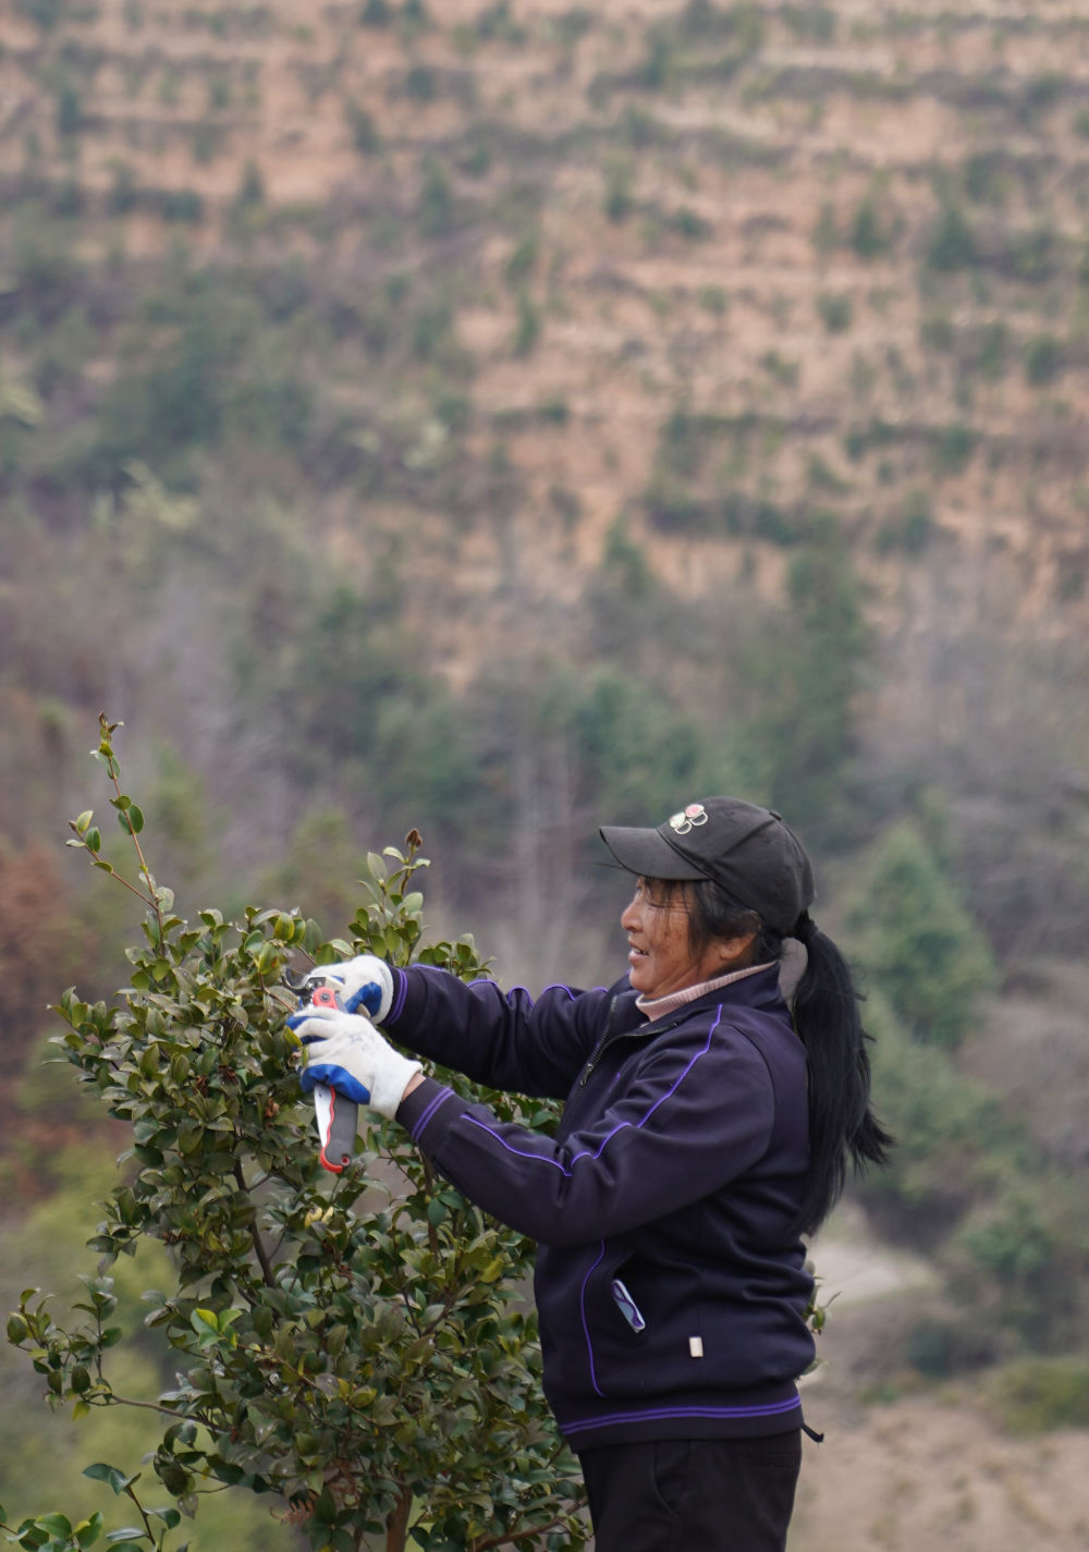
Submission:
[[[819,1245],[814,1262],[822,1302],[838,1297],[827,1361],[805,1381],[825,1442],[805,1442],[790,1552],[1084,1552],[1089,1432],[1010,1439],[968,1383],[912,1394],[911,1377],[886,1378],[890,1398],[873,1400],[864,1353],[880,1349],[883,1325],[903,1330],[931,1274],[856,1226]]]

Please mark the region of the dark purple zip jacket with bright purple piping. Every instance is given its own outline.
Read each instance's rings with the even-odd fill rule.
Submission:
[[[433,1079],[397,1117],[447,1180],[538,1242],[544,1392],[568,1440],[797,1428],[808,1121],[777,968],[655,1023],[627,978],[534,1001],[422,965],[394,976],[397,1041],[492,1088],[566,1099],[555,1136]]]

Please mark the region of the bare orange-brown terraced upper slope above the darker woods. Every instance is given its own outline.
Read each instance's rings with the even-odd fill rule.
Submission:
[[[76,202],[81,258],[225,259],[248,202],[341,338],[394,275],[448,286],[472,427],[410,453],[503,447],[531,593],[617,512],[686,588],[774,587],[833,506],[887,627],[929,571],[915,621],[1084,629],[1078,6],[22,0],[0,45],[5,203]],[[425,372],[352,365],[330,413],[419,414]],[[510,565],[473,537],[467,605]]]

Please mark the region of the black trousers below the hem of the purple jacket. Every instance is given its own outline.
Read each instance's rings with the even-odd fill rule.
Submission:
[[[783,1552],[802,1436],[603,1445],[579,1462],[594,1552]]]

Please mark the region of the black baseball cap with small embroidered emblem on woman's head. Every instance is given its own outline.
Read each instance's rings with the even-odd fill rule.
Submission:
[[[813,903],[813,863],[782,815],[743,798],[689,802],[656,830],[602,826],[600,837],[642,878],[710,878],[788,937]]]

